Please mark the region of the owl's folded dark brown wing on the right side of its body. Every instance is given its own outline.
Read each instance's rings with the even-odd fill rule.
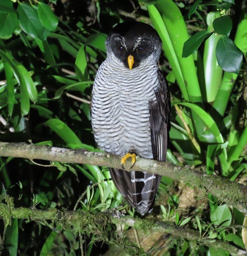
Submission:
[[[168,84],[161,71],[158,70],[160,87],[155,92],[156,100],[150,102],[150,131],[153,150],[153,159],[165,161],[170,130],[170,92]],[[161,175],[156,177],[156,190],[158,189]],[[156,193],[156,191],[155,191]]]

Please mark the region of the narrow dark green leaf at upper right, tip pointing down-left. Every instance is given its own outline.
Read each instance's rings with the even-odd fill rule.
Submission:
[[[201,43],[206,40],[209,36],[212,35],[213,32],[208,30],[203,30],[195,33],[195,35],[191,36],[183,45],[183,53],[182,58],[187,58],[191,54],[195,53]]]

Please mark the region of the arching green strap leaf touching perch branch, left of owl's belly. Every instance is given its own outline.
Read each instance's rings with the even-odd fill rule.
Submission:
[[[50,119],[44,123],[49,126],[61,139],[63,139],[70,148],[86,148],[87,150],[94,150],[94,147],[83,144],[77,135],[61,120]]]

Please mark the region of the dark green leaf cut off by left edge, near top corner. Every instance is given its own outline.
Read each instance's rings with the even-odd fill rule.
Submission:
[[[0,6],[1,8],[1,6]],[[0,36],[9,36],[15,32],[18,25],[18,19],[15,12],[0,12]]]

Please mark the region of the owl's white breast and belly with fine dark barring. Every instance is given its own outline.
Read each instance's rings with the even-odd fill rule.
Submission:
[[[149,104],[156,100],[157,68],[149,58],[132,70],[108,59],[99,67],[91,113],[94,138],[101,150],[117,155],[134,150],[153,158]]]

